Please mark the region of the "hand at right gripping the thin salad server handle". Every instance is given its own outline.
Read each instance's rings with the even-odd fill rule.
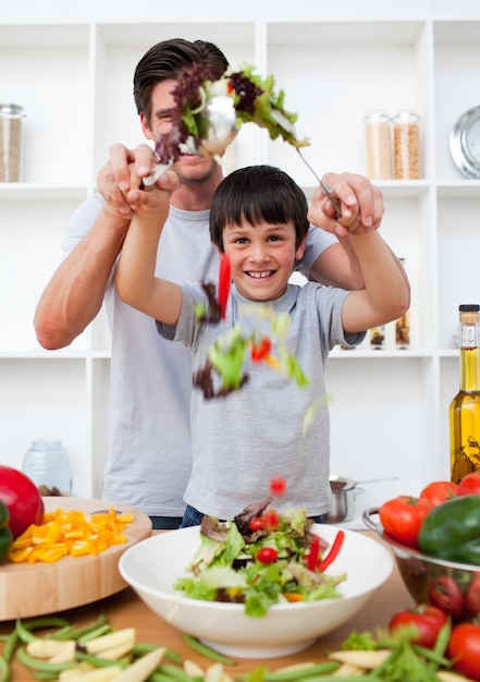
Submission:
[[[355,173],[327,173],[322,180],[339,197],[342,216],[339,219],[335,217],[335,209],[319,186],[308,211],[312,224],[337,236],[368,234],[377,230],[384,212],[383,195],[379,187],[372,185],[368,178]]]

